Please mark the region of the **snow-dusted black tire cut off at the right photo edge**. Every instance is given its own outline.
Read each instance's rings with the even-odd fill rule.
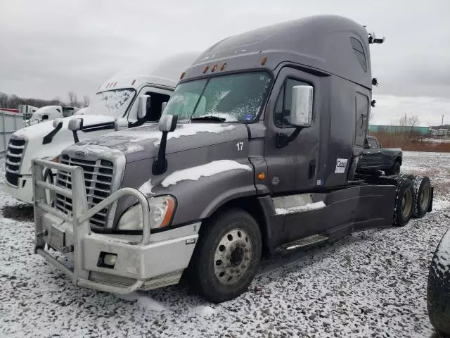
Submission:
[[[450,230],[447,230],[430,264],[427,308],[430,322],[444,337],[450,337]]]

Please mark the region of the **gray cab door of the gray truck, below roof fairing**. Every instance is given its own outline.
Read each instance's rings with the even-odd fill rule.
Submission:
[[[282,68],[266,108],[264,157],[272,194],[301,192],[316,185],[319,155],[319,110],[316,102],[313,103],[311,127],[302,129],[292,142],[283,143],[296,129],[289,123],[292,92],[294,86],[302,85],[312,85],[314,97],[319,97],[320,86],[316,76],[295,68]]]

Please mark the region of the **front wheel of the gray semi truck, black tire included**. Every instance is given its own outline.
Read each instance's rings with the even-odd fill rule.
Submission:
[[[230,234],[234,234],[234,237],[231,237],[235,242],[231,242]],[[242,238],[238,238],[239,234]],[[245,239],[247,239],[246,242],[244,242]],[[226,240],[230,240],[229,246],[223,245],[226,244],[226,242],[224,243]],[[233,243],[236,245],[233,246]],[[245,249],[242,249],[244,246]],[[221,254],[219,253],[222,251],[221,247],[225,248],[223,261],[216,260],[217,254]],[[248,251],[244,250],[249,250],[250,247],[250,255],[245,256]],[[233,299],[248,289],[257,273],[261,251],[261,232],[255,218],[239,208],[219,212],[200,228],[198,244],[195,246],[189,266],[189,282],[201,296],[209,301],[219,303]],[[236,254],[238,258],[243,255],[240,257],[240,263],[237,263],[238,258],[236,260],[233,258],[233,254],[236,252],[238,252]],[[229,256],[226,257],[226,255]],[[222,268],[221,264],[223,264],[224,275],[219,277],[222,272],[219,274],[217,272]],[[240,275],[237,275],[238,273]]]

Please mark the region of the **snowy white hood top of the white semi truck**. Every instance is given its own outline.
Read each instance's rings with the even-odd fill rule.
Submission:
[[[114,122],[114,119],[107,115],[72,115],[69,116],[68,118],[60,118],[60,120],[63,121],[63,127],[58,131],[57,134],[61,132],[68,132],[72,134],[72,132],[68,130],[68,125],[69,121],[72,120],[73,118],[82,118],[83,127]],[[18,138],[25,138],[28,140],[38,141],[39,139],[43,139],[47,134],[52,132],[54,129],[55,128],[53,127],[53,120],[49,120],[46,122],[41,122],[34,125],[30,125],[28,127],[24,127],[15,132],[14,135],[15,137]],[[83,132],[80,132],[79,134],[83,134]]]

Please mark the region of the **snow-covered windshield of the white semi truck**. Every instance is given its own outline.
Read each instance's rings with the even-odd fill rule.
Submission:
[[[85,115],[108,115],[113,118],[121,118],[133,101],[136,90],[115,89],[100,92],[94,96]]]

